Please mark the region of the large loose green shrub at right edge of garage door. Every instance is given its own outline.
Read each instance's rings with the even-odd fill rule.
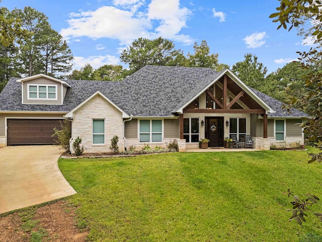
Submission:
[[[69,140],[71,138],[71,128],[70,122],[66,119],[63,122],[59,121],[60,129],[54,128],[54,134],[51,137],[57,136],[55,140],[56,144],[60,146],[61,149],[69,152]]]

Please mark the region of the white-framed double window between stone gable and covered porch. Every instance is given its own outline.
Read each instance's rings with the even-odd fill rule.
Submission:
[[[139,122],[140,142],[162,142],[162,120],[140,119]]]

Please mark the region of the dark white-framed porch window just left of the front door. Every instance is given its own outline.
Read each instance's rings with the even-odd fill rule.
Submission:
[[[183,138],[186,143],[199,142],[199,118],[187,117],[183,119]]]

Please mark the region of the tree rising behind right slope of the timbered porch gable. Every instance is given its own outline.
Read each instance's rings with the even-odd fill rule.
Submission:
[[[258,57],[247,53],[243,62],[237,62],[232,66],[231,71],[246,85],[260,89],[264,83],[267,68],[257,61]],[[260,90],[259,90],[260,91]]]

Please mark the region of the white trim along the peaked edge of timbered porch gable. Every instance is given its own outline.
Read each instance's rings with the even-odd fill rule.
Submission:
[[[180,107],[176,112],[183,113],[183,109],[187,107],[193,100],[199,97],[202,93],[204,93],[211,85],[216,83],[221,77],[224,75],[230,77],[242,90],[244,90],[247,94],[249,94],[257,103],[259,103],[266,112],[275,113],[275,110],[271,108],[266,102],[264,102],[259,96],[257,96],[245,83],[243,83],[235,74],[233,74],[229,69],[223,70],[219,76],[217,76],[210,84],[208,84],[204,89],[202,89],[197,95],[195,95],[191,100],[189,100],[185,105]]]

